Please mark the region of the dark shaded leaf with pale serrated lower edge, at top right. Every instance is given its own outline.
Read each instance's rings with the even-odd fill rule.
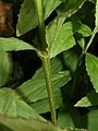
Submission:
[[[60,8],[58,8],[58,17],[70,17],[74,13],[76,13],[82,5],[85,3],[86,0],[69,0],[68,4],[66,1],[65,3],[62,3]]]

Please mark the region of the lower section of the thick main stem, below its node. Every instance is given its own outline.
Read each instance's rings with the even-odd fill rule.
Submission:
[[[47,91],[48,91],[49,107],[51,110],[51,121],[53,124],[56,124],[57,116],[56,116],[56,107],[54,107],[54,98],[53,98],[53,91],[52,91],[51,72],[50,72],[50,59],[47,56],[47,57],[42,57],[41,61],[44,66],[46,85],[47,85]]]

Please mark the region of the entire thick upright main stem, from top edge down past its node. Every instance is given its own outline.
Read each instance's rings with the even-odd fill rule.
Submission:
[[[47,86],[48,98],[49,98],[49,107],[51,111],[51,121],[53,124],[56,124],[56,121],[57,121],[56,106],[54,106],[54,98],[53,98],[53,91],[52,91],[50,58],[47,51],[47,44],[46,44],[42,3],[41,3],[41,0],[35,0],[35,3],[36,3],[37,15],[38,15],[38,29],[39,29],[39,40],[40,40],[39,57],[41,59],[44,73],[45,73],[46,86]]]

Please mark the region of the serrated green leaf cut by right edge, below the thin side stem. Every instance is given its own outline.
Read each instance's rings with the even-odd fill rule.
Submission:
[[[98,58],[86,53],[86,70],[96,92],[98,92]]]

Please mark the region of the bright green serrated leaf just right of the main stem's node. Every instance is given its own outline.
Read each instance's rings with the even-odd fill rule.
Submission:
[[[58,26],[58,21],[56,20],[47,28],[47,44],[49,45],[50,58],[56,57],[58,53],[70,49],[75,45],[75,39],[73,37],[72,23],[68,22],[62,26]],[[54,27],[56,26],[56,27]],[[52,28],[54,27],[54,29]],[[53,34],[50,37],[51,32]]]

